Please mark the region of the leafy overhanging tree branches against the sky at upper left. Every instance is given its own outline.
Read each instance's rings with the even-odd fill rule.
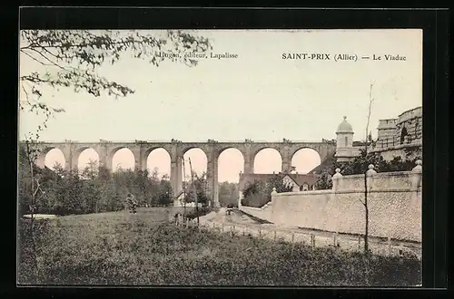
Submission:
[[[143,34],[140,31],[113,30],[22,30],[20,32],[21,60],[27,58],[44,66],[44,72],[30,72],[20,76],[21,111],[44,112],[46,121],[54,112],[63,109],[49,107],[43,101],[42,87],[49,85],[57,90],[72,87],[74,92],[88,92],[99,97],[103,92],[124,97],[134,91],[119,82],[100,76],[97,70],[104,63],[117,63],[125,53],[134,58],[148,60],[155,66],[163,62],[159,53],[168,53],[168,60],[197,65],[186,53],[205,53],[212,49],[208,39],[169,30],[162,34]],[[43,129],[40,126],[39,130]]]

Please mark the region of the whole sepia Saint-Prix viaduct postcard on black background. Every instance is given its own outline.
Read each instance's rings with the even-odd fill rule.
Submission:
[[[17,285],[422,285],[422,30],[21,30]]]

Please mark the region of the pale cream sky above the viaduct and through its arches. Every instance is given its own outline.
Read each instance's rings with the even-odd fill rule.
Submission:
[[[354,140],[363,140],[372,82],[376,99],[370,116],[372,136],[377,134],[380,119],[397,118],[401,112],[422,105],[421,30],[189,33],[210,39],[213,49],[209,55],[231,53],[238,57],[202,59],[195,67],[168,61],[155,67],[123,57],[119,63],[98,70],[135,91],[118,100],[71,89],[43,88],[42,101],[65,111],[49,121],[41,140],[321,141],[336,138],[343,116],[355,131]],[[282,59],[282,53],[327,53],[331,60]],[[358,60],[336,62],[332,59],[337,54],[357,55]],[[374,54],[381,59],[360,59]],[[388,54],[405,56],[406,60],[387,61],[384,55]],[[44,71],[42,65],[20,55],[21,75]],[[21,113],[19,138],[35,131],[41,121],[41,116]],[[196,172],[206,169],[201,149],[190,150],[185,160],[189,157]],[[47,154],[46,165],[52,167],[62,159],[63,154],[55,149]],[[97,159],[94,150],[85,150],[79,165],[89,159]],[[300,173],[320,163],[318,154],[311,150],[301,150],[292,161]],[[239,151],[224,151],[219,180],[237,182],[242,164]],[[127,149],[117,152],[113,165],[133,167],[132,153]],[[169,173],[170,158],[163,149],[156,149],[148,157],[147,167]],[[185,170],[189,173],[189,166]],[[263,149],[254,170],[280,171],[280,155]]]

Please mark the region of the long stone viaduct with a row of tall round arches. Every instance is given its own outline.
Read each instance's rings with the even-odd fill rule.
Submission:
[[[94,149],[99,156],[101,167],[112,169],[114,154],[119,149],[130,149],[135,160],[135,170],[145,170],[148,154],[153,149],[165,149],[171,158],[171,183],[174,196],[177,196],[183,189],[183,155],[189,149],[202,149],[208,161],[207,180],[208,194],[212,198],[214,206],[219,204],[218,190],[218,158],[225,149],[239,149],[244,159],[244,173],[253,173],[254,159],[262,149],[276,149],[281,154],[281,171],[291,170],[291,158],[299,149],[314,149],[321,157],[321,162],[327,157],[334,155],[336,144],[330,141],[322,142],[301,142],[283,140],[281,142],[256,142],[244,140],[243,142],[218,142],[208,140],[207,142],[183,142],[172,140],[171,142],[142,141],[113,142],[100,140],[99,142],[75,142],[65,140],[64,142],[40,142],[38,149],[40,156],[36,160],[39,167],[44,168],[45,155],[51,149],[60,149],[64,154],[65,169],[77,169],[78,159],[84,149]]]

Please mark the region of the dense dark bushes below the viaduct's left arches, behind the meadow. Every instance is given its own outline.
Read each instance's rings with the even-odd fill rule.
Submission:
[[[24,154],[20,155],[24,159]],[[19,213],[29,213],[31,203],[31,171],[22,161],[19,169]],[[149,176],[147,171],[120,170],[111,173],[108,169],[89,164],[82,174],[66,171],[61,166],[50,169],[34,168],[34,177],[39,176],[43,193],[36,202],[35,213],[59,216],[80,215],[118,211],[124,208],[128,193],[144,207],[168,205],[173,202],[170,181],[158,178],[156,171]]]

